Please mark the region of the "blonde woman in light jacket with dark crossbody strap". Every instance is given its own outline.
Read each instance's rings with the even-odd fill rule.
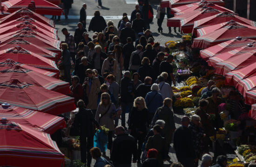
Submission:
[[[98,105],[96,111],[95,119],[101,126],[105,125],[106,128],[109,128],[108,131],[108,149],[111,151],[112,148],[112,135],[115,131],[114,118],[115,115],[115,104],[111,103],[110,95],[108,93],[101,94],[101,102]]]

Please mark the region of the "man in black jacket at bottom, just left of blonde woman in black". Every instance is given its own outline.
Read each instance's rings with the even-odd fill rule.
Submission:
[[[137,160],[135,139],[128,133],[125,133],[125,129],[122,126],[115,128],[115,134],[117,137],[112,144],[110,160],[113,161],[115,167],[131,167],[131,162],[135,163]]]

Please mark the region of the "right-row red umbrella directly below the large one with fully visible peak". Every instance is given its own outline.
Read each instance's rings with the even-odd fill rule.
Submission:
[[[209,58],[216,56],[218,54],[227,52],[227,51],[232,51],[236,48],[245,46],[247,44],[251,44],[255,42],[255,40],[251,39],[245,39],[242,37],[236,37],[234,39],[222,42],[218,45],[211,46],[207,49],[201,50],[200,51],[200,57],[207,61]]]

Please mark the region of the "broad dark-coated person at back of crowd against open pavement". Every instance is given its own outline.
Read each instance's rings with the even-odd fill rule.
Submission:
[[[97,10],[94,12],[94,17],[91,19],[88,31],[102,32],[106,26],[107,23],[105,19],[101,16],[100,11]]]

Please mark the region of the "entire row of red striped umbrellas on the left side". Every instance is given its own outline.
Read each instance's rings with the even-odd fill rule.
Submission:
[[[2,4],[14,6],[12,13],[25,1]],[[57,115],[76,107],[69,83],[58,79],[61,41],[54,22],[38,13],[20,8],[0,19],[0,166],[64,166],[50,134],[66,126]]]

